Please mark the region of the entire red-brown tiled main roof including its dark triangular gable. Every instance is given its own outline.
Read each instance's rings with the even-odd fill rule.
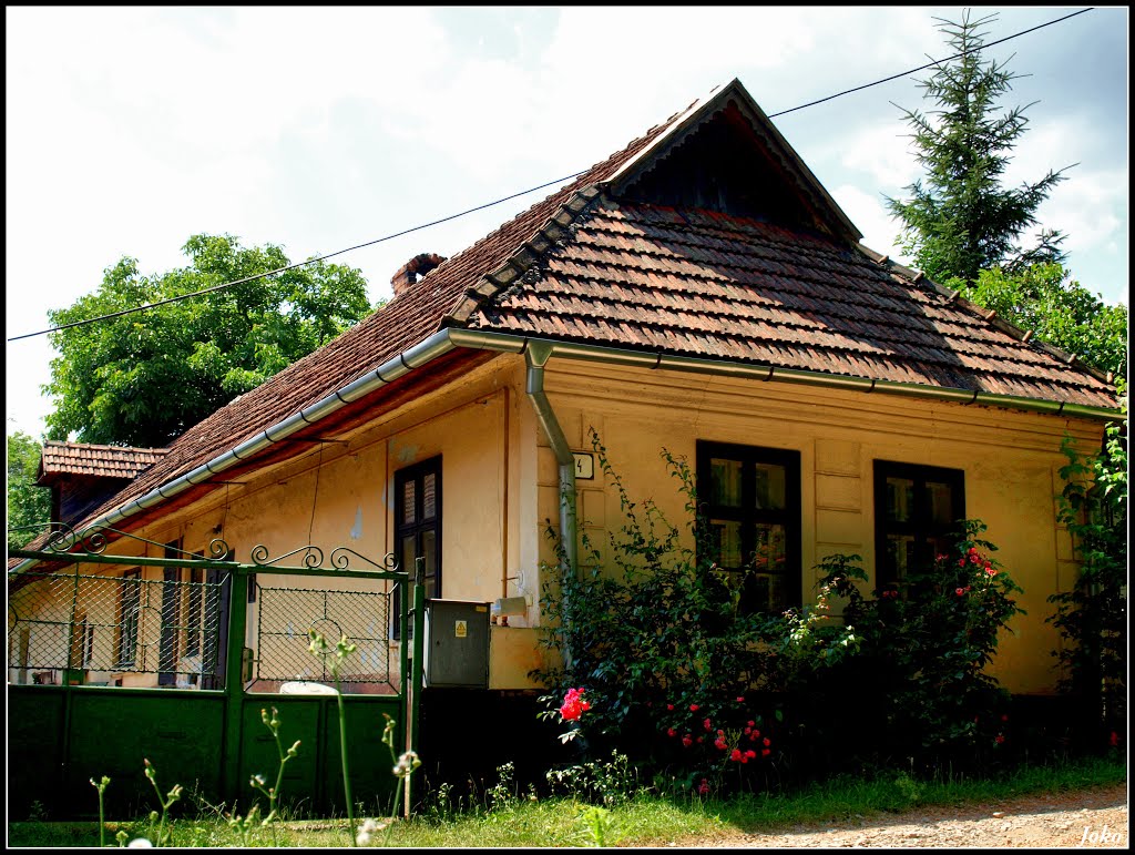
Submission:
[[[92,519],[241,447],[446,327],[1117,406],[1100,372],[858,238],[733,81],[187,430]]]

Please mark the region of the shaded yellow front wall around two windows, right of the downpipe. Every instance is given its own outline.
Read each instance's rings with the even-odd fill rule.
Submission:
[[[570,360],[549,363],[545,388],[573,450],[590,451],[594,427],[634,498],[653,498],[684,523],[678,483],[663,447],[693,466],[698,439],[800,453],[802,590],[815,593],[814,565],[833,553],[857,553],[873,572],[873,462],[889,460],[960,469],[966,514],[987,526],[984,537],[1024,588],[1018,615],[1002,632],[992,672],[1010,691],[1050,693],[1059,638],[1045,618],[1046,597],[1067,586],[1074,564],[1059,530],[1057,471],[1065,431],[1091,451],[1099,425],[1067,418],[950,402],[865,394],[802,384],[754,383],[674,371],[612,368]],[[540,519],[556,519],[555,461],[540,450]],[[577,483],[581,528],[592,542],[620,520],[617,495],[599,476]],[[544,559],[550,560],[545,550]]]

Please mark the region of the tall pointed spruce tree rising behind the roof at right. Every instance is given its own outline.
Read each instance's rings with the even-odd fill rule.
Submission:
[[[1062,261],[1058,232],[1042,233],[1039,243],[1022,249],[1018,240],[1036,225],[1036,209],[1065,169],[1035,183],[1002,187],[1010,152],[1026,131],[1027,108],[997,115],[998,101],[1018,76],[995,60],[984,60],[983,27],[995,20],[962,14],[960,23],[939,18],[939,27],[958,59],[940,62],[920,81],[924,97],[939,107],[931,114],[903,110],[913,129],[922,179],[906,187],[908,201],[888,198],[891,213],[902,220],[900,241],[907,255],[933,279],[957,277],[969,285],[982,270],[1016,270],[1039,261]]]

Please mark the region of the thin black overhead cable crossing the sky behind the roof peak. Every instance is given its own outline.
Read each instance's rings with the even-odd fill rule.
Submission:
[[[1068,20],[1069,18],[1075,18],[1077,15],[1083,15],[1086,11],[1092,11],[1094,8],[1095,7],[1090,6],[1086,9],[1081,9],[1079,11],[1074,11],[1070,15],[1065,15],[1062,18],[1056,18],[1054,20],[1049,20],[1049,22],[1046,22],[1044,24],[1037,24],[1035,27],[1029,27],[1028,30],[1022,30],[1019,33],[1014,33],[1012,35],[1007,35],[1004,39],[998,39],[997,41],[990,42],[989,44],[982,44],[980,48],[977,48],[975,50],[981,51],[981,50],[985,50],[987,48],[992,48],[992,47],[994,47],[997,44],[1002,44],[1002,43],[1008,42],[1008,41],[1010,41],[1012,39],[1017,39],[1019,36],[1027,35],[1028,33],[1034,33],[1037,30],[1043,30],[1044,27],[1052,26],[1053,24],[1060,24],[1061,22]],[[918,66],[917,68],[911,68],[911,69],[909,69],[907,72],[900,72],[899,74],[892,74],[890,77],[883,77],[882,79],[877,79],[877,81],[874,81],[872,83],[865,83],[861,86],[855,86],[854,89],[843,90],[842,92],[836,92],[833,95],[827,95],[826,98],[821,98],[821,99],[818,99],[816,101],[809,101],[808,103],[800,104],[799,107],[791,107],[791,108],[789,108],[787,110],[781,110],[780,112],[768,114],[768,118],[774,119],[777,116],[785,116],[785,115],[788,115],[790,112],[796,112],[797,110],[802,110],[802,109],[805,109],[807,107],[815,107],[816,104],[822,104],[825,101],[832,101],[832,100],[834,100],[836,98],[842,98],[843,95],[849,95],[852,92],[860,92],[860,91],[863,91],[865,89],[871,89],[872,86],[878,86],[880,84],[883,84],[883,83],[890,83],[891,81],[898,79],[899,77],[906,77],[908,74],[916,74],[918,72],[924,72],[927,68],[933,68],[934,66],[941,65],[942,62],[950,62],[950,61],[952,61],[955,59],[960,59],[964,56],[966,56],[966,51],[962,51],[961,53],[955,53],[952,57],[945,57],[944,59],[934,59],[934,60],[931,60],[930,62],[927,62],[925,65]],[[326,255],[319,255],[318,258],[310,258],[310,259],[306,259],[305,261],[297,261],[294,265],[288,265],[287,267],[280,267],[280,268],[277,268],[275,270],[267,270],[267,271],[264,271],[262,274],[254,274],[252,276],[246,276],[243,279],[236,279],[235,282],[226,282],[226,283],[222,283],[220,285],[213,285],[213,286],[208,287],[208,288],[201,288],[200,291],[193,291],[193,292],[190,292],[188,294],[180,294],[178,296],[171,296],[168,300],[159,300],[155,303],[146,303],[145,305],[137,305],[137,307],[135,307],[133,309],[123,309],[121,311],[118,311],[118,312],[111,312],[109,315],[100,315],[100,316],[98,316],[95,318],[87,318],[86,320],[76,320],[76,321],[73,321],[70,324],[64,324],[64,325],[58,326],[58,327],[51,327],[49,329],[41,329],[37,333],[25,333],[24,335],[12,336],[11,338],[8,338],[7,341],[9,341],[9,342],[18,342],[22,338],[33,338],[33,337],[39,336],[39,335],[47,335],[48,333],[58,333],[61,329],[70,329],[72,327],[79,327],[79,326],[84,326],[85,324],[94,324],[95,321],[99,321],[99,320],[110,320],[111,318],[120,318],[124,315],[133,315],[134,312],[146,311],[148,309],[154,309],[154,308],[157,308],[159,305],[166,305],[167,303],[176,303],[176,302],[178,302],[180,300],[188,300],[190,297],[200,296],[202,294],[208,294],[208,293],[213,292],[213,291],[220,291],[221,288],[230,288],[230,287],[233,287],[235,285],[243,285],[246,282],[255,282],[257,279],[262,279],[262,278],[268,277],[268,276],[275,276],[276,274],[281,274],[281,273],[285,273],[287,270],[294,270],[297,267],[303,267],[305,265],[313,265],[317,261],[326,261],[329,258],[335,258],[336,255],[342,255],[342,254],[344,254],[346,252],[353,252],[354,250],[361,250],[361,249],[364,249],[367,246],[373,246],[375,244],[384,243],[385,241],[393,241],[395,237],[402,237],[403,235],[407,235],[407,234],[410,234],[412,232],[420,232],[423,228],[430,228],[431,226],[438,226],[438,225],[440,225],[443,223],[448,223],[449,220],[457,219],[459,217],[464,217],[464,216],[470,215],[470,213],[476,213],[477,211],[482,211],[486,208],[491,208],[491,207],[501,204],[503,202],[507,202],[507,201],[511,201],[513,199],[518,199],[519,196],[528,195],[529,193],[535,193],[538,190],[544,190],[545,187],[550,187],[553,184],[561,184],[563,182],[571,181],[572,178],[578,178],[579,176],[581,176],[586,171],[587,171],[587,169],[581,169],[578,173],[572,173],[571,175],[566,175],[566,176],[564,176],[562,178],[556,178],[555,181],[545,182],[544,184],[539,184],[539,185],[537,185],[535,187],[529,187],[528,190],[522,190],[519,193],[513,193],[512,195],[503,196],[502,199],[497,199],[497,200],[495,200],[493,202],[486,202],[485,204],[479,204],[476,208],[470,208],[468,210],[461,211],[460,213],[452,213],[448,217],[443,217],[442,219],[436,219],[436,220],[432,220],[431,223],[423,223],[420,226],[413,226],[411,228],[403,229],[402,232],[396,232],[396,233],[394,233],[392,235],[386,235],[385,237],[379,237],[379,238],[376,238],[373,241],[368,241],[365,243],[355,244],[354,246],[347,246],[345,250],[337,250],[335,252],[329,252]]]

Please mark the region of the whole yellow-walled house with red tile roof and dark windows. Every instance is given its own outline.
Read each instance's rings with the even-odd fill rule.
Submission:
[[[750,609],[808,602],[833,553],[863,555],[872,588],[893,584],[953,521],[983,520],[1027,612],[992,671],[1012,693],[1051,694],[1060,639],[1046,598],[1076,573],[1057,518],[1060,446],[1099,449],[1119,417],[1112,378],[860,237],[733,81],[466,250],[410,259],[388,304],[187,430],[77,528],[129,533],[151,556],[204,554],[218,536],[239,561],[258,548],[390,554],[420,568],[438,614],[453,603],[484,617],[484,680],[470,686],[536,691],[549,523],[575,567],[585,534],[602,543],[619,525],[594,430],[672,520],[684,500],[659,452],[690,462],[718,565],[771,559]],[[386,589],[350,571],[255,587],[274,586]],[[134,668],[135,654],[200,657],[196,627],[225,605],[203,594],[124,611],[127,595],[91,621],[114,632],[76,642],[120,665],[99,681],[180,672]],[[131,644],[149,644],[126,649],[126,612],[141,615]],[[228,639],[250,661],[264,655],[259,614]],[[287,631],[305,634],[295,621]],[[404,640],[389,614],[348,635],[384,657]],[[27,681],[33,644],[9,634],[9,681]],[[317,677],[305,668],[294,663],[296,679]],[[208,688],[201,677],[177,685]]]

